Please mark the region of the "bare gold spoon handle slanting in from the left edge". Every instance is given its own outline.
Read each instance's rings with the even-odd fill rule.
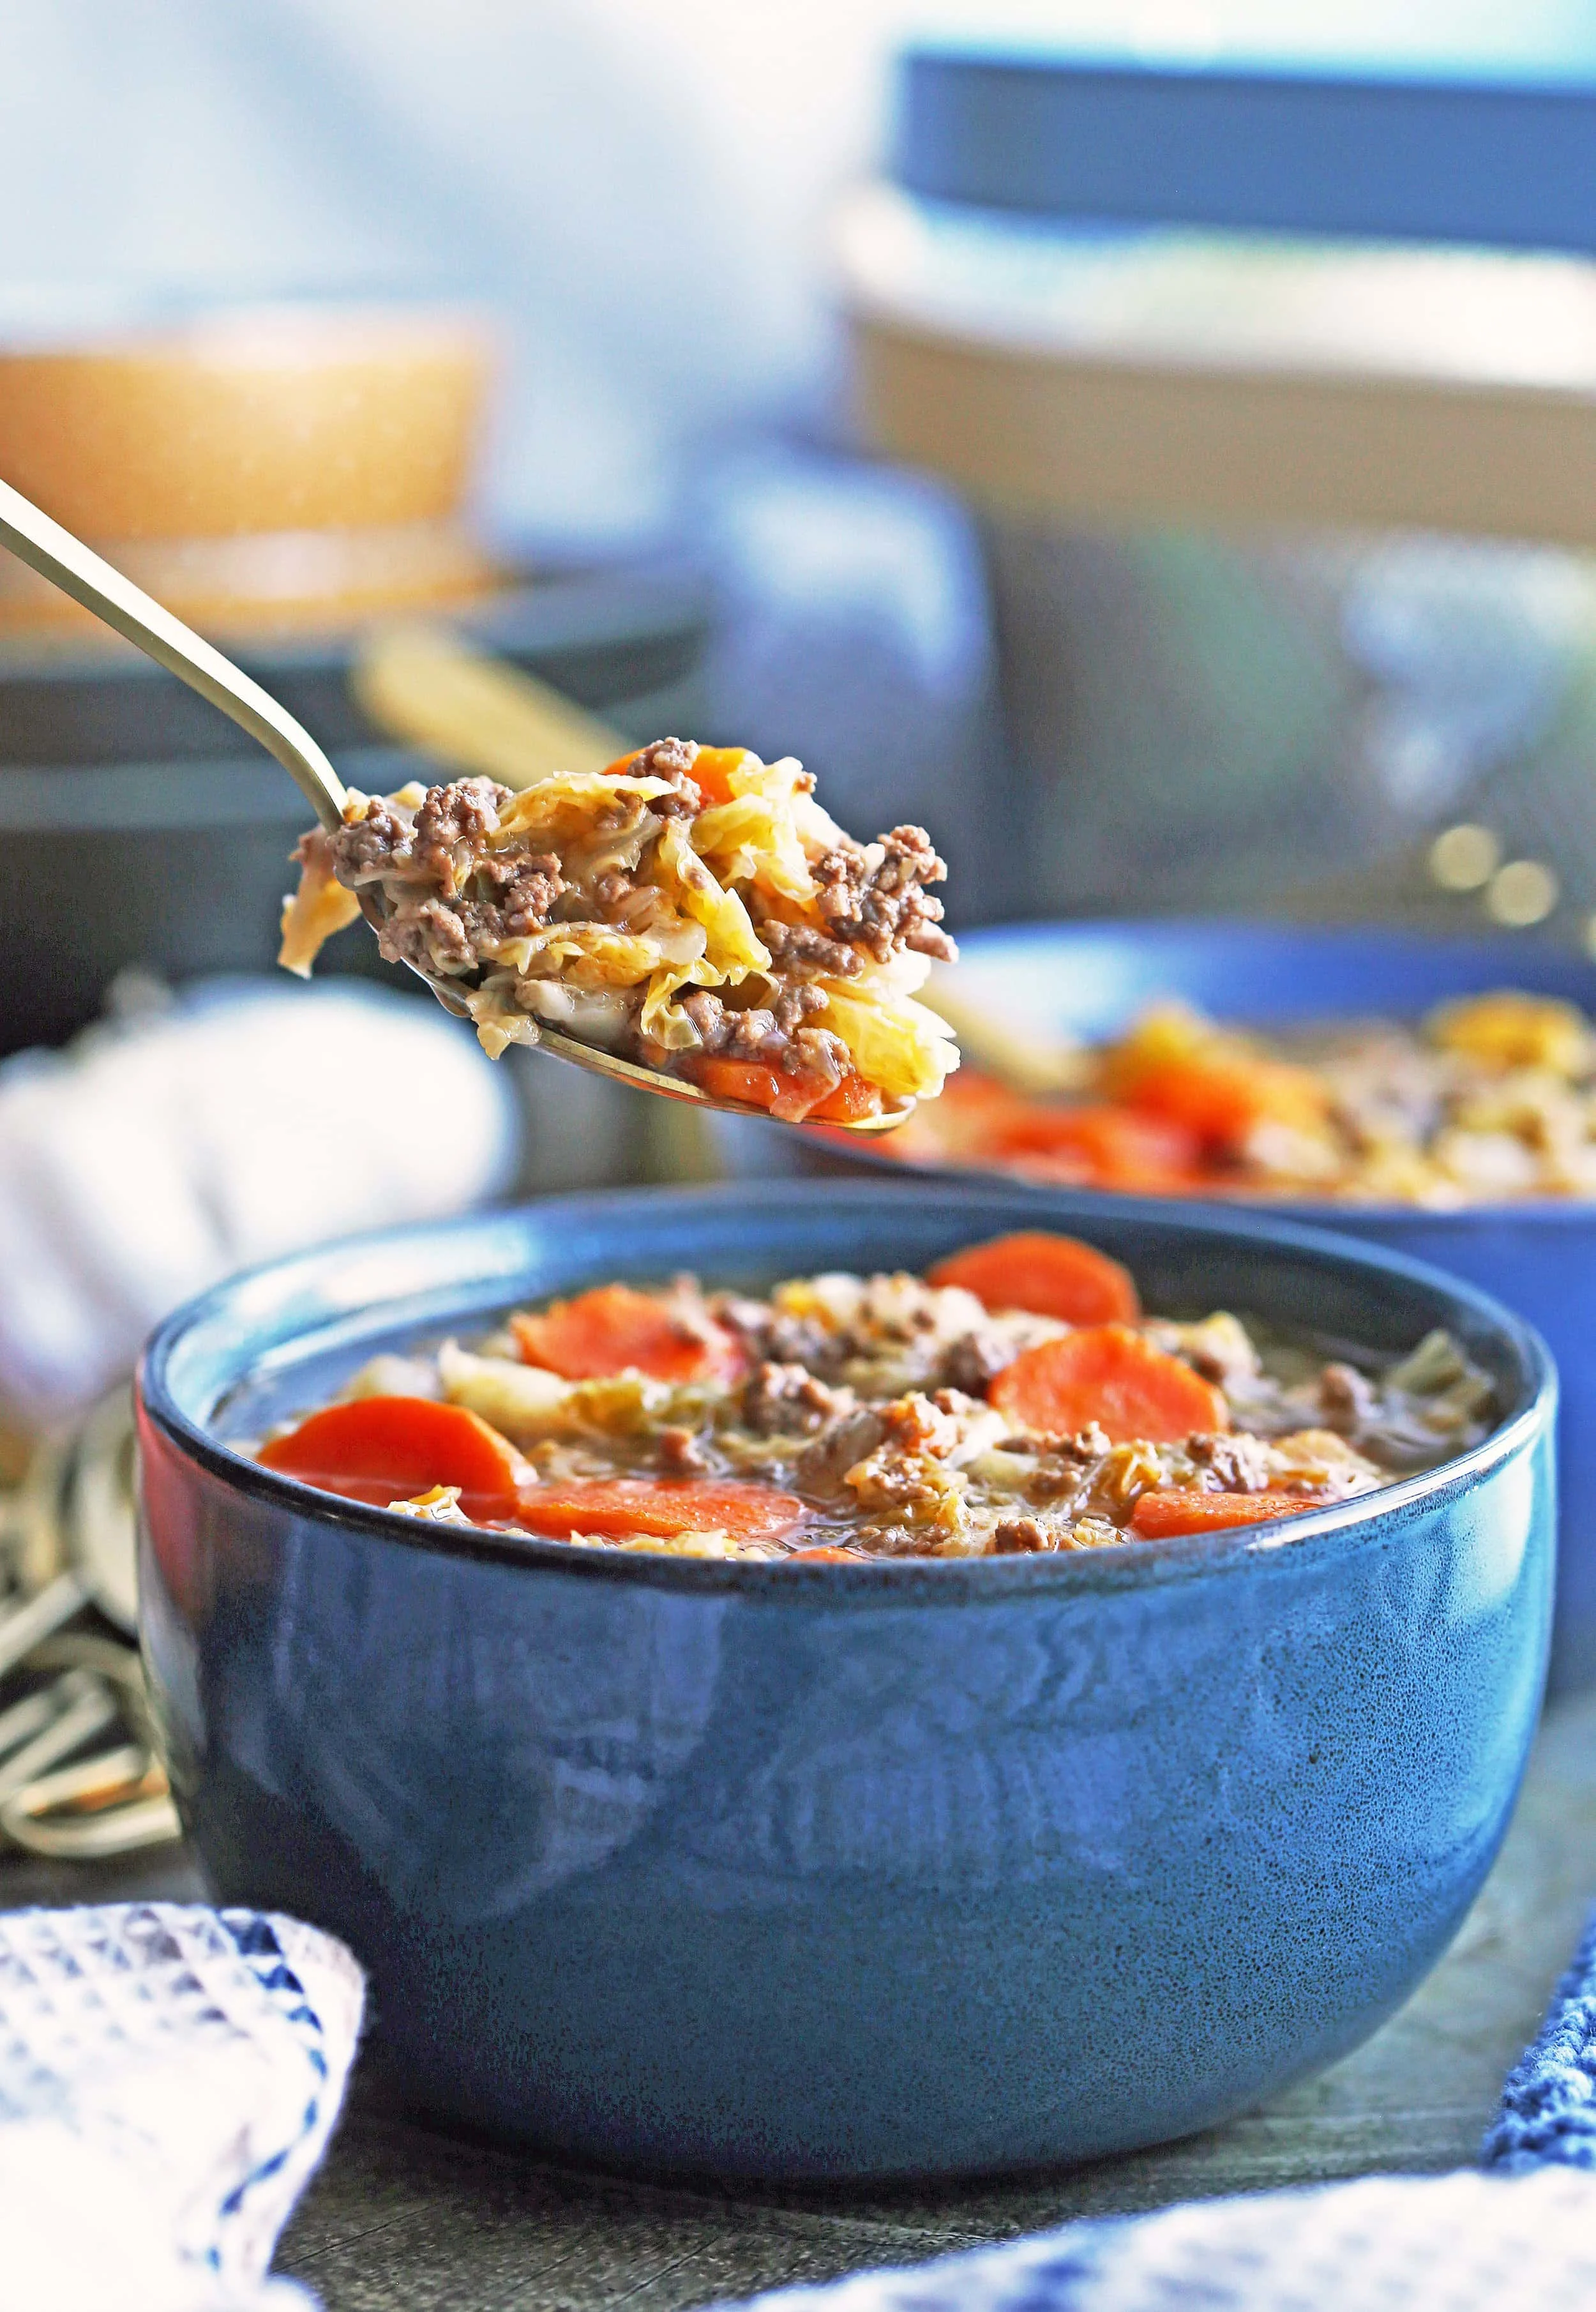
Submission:
[[[93,610],[106,627],[136,643],[157,666],[178,675],[213,707],[229,714],[241,731],[275,754],[287,775],[303,788],[322,825],[340,825],[345,784],[310,733],[275,698],[268,698],[259,682],[250,682],[231,659],[224,659],[210,643],[201,643],[180,617],[162,610],[132,578],[113,571],[81,539],[53,523],[49,513],[39,513],[5,481],[0,481],[0,546],[9,546],[19,562],[49,578],[62,594]]]

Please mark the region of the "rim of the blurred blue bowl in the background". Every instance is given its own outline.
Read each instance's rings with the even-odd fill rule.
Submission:
[[[1450,932],[1406,932],[1399,925],[1383,922],[1272,922],[1256,920],[1247,916],[1083,916],[1073,922],[1057,918],[1039,918],[1036,922],[995,922],[983,925],[974,932],[960,932],[960,948],[976,962],[983,955],[1002,953],[1004,948],[1022,948],[1034,939],[1059,939],[1064,943],[1087,941],[1087,939],[1150,939],[1152,946],[1173,946],[1180,939],[1212,939],[1224,936],[1235,941],[1237,948],[1249,943],[1263,946],[1265,941],[1293,941],[1300,946],[1318,948],[1342,948],[1358,946],[1362,953],[1388,953],[1392,962],[1402,955],[1453,955],[1460,962],[1478,957],[1480,966],[1501,957],[1510,962],[1513,955],[1534,955],[1543,962],[1564,964],[1568,976],[1584,976],[1589,980],[1591,1006],[1596,1006],[1596,962],[1587,962],[1573,948],[1559,948],[1552,941],[1536,941],[1531,946],[1520,946],[1510,934],[1485,936],[1485,939],[1460,939]],[[1175,996],[1180,990],[1170,990]],[[1328,1013],[1302,1010],[1305,1022],[1316,1017],[1330,1017]],[[805,1138],[800,1124],[779,1124],[773,1131],[791,1133],[793,1138]],[[835,1142],[826,1142],[833,1151]],[[872,1172],[881,1172],[888,1179],[948,1179],[962,1181],[965,1186],[990,1188],[1002,1184],[1004,1188],[1018,1188],[1027,1195],[1057,1195],[1045,1181],[1022,1179],[1018,1172],[985,1170],[983,1165],[969,1163],[909,1163],[907,1158],[891,1156],[886,1149],[874,1147],[870,1140],[854,1140],[847,1149],[837,1151],[842,1161],[867,1165]],[[1302,1198],[1302,1195],[1205,1195],[1205,1198],[1173,1198],[1173,1195],[1133,1195],[1129,1191],[1108,1188],[1073,1188],[1071,1195],[1124,1195],[1126,1205],[1136,1205],[1145,1214],[1170,1211],[1177,1205],[1200,1202],[1214,1207],[1217,1211],[1244,1211],[1270,1218],[1279,1214],[1286,1221],[1300,1221],[1305,1228],[1328,1228],[1335,1230],[1337,1218],[1353,1223],[1360,1218],[1381,1221],[1388,1225],[1425,1225],[1425,1228],[1471,1228],[1476,1221],[1531,1221],[1536,1225],[1559,1225],[1573,1228],[1580,1223],[1596,1223],[1596,1198],[1580,1195],[1515,1195],[1503,1198],[1494,1205],[1402,1205],[1402,1202],[1379,1202],[1374,1198]]]

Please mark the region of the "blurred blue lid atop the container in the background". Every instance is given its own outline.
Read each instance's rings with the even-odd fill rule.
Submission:
[[[914,49],[893,173],[928,199],[1126,224],[1596,250],[1596,69]]]

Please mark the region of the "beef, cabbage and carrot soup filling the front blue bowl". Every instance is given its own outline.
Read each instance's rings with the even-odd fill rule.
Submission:
[[[1443,1332],[1381,1362],[1147,1313],[1050,1232],[763,1297],[608,1283],[377,1357],[259,1459],[419,1519],[740,1558],[1011,1556],[1221,1533],[1490,1424]]]

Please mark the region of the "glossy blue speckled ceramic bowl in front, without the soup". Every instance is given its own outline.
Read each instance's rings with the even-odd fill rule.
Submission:
[[[1150,1306],[1450,1325],[1501,1422],[1224,1542],[967,1563],[585,1554],[229,1452],[352,1364],[615,1274],[923,1267],[1039,1216]],[[1554,1378],[1464,1285],[1108,1198],[551,1202],[259,1269],[141,1376],[141,1623],[215,1894],[345,1935],[409,2092],[608,2164],[1013,2169],[1207,2127],[1406,1998],[1545,1674]]]

